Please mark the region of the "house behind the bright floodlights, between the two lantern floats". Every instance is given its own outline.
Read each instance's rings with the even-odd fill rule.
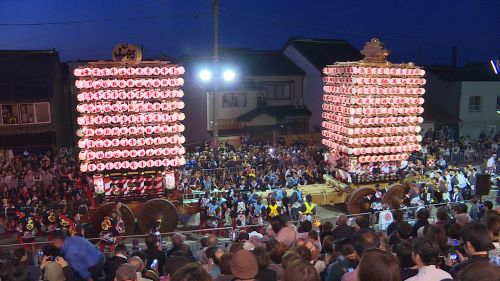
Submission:
[[[211,136],[214,110],[219,136],[250,135],[273,141],[278,135],[307,133],[311,112],[304,104],[304,71],[279,51],[225,49],[220,69],[234,69],[236,79],[219,81],[214,104],[213,84],[198,79],[210,58],[184,57],[186,136],[200,142]]]

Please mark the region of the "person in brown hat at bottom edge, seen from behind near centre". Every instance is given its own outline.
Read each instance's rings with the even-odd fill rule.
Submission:
[[[255,255],[249,250],[237,251],[229,263],[235,281],[254,281],[259,266]]]

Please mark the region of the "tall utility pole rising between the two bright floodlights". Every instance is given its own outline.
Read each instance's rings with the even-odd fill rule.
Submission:
[[[219,0],[214,0],[214,90],[212,94],[212,136],[219,149]],[[217,153],[217,152],[216,152]]]

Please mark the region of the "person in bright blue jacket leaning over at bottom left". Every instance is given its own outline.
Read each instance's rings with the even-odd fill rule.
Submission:
[[[78,277],[86,281],[99,280],[103,257],[88,240],[80,236],[66,237],[65,233],[57,232],[54,235],[54,246],[61,251]]]

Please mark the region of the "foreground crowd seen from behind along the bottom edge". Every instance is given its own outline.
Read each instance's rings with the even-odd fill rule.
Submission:
[[[339,215],[335,227],[324,221],[317,229],[298,226],[284,215],[267,227],[242,229],[226,246],[203,236],[192,251],[175,233],[171,246],[150,234],[144,244],[119,244],[103,254],[83,237],[56,233],[38,253],[16,249],[2,253],[1,280],[172,280],[172,281],[399,281],[500,280],[500,214],[492,204],[481,217],[469,216],[467,205],[442,206],[436,220],[429,210],[417,222],[395,220],[375,231],[366,217]],[[393,212],[394,217],[399,210]],[[143,246],[143,248],[141,248]]]

